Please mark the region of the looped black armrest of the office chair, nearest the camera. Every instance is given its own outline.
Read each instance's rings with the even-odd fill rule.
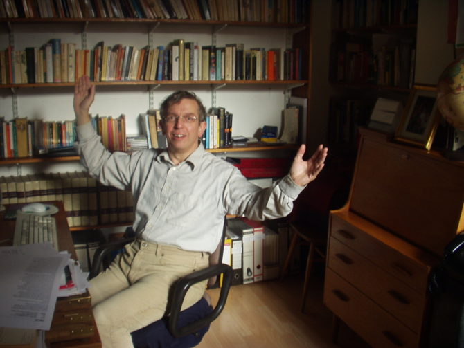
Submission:
[[[219,300],[217,300],[217,304],[213,311],[202,319],[187,324],[184,327],[177,327],[181,306],[190,286],[220,274],[224,275],[222,279],[221,292]],[[220,315],[226,304],[227,295],[229,294],[229,289],[231,287],[232,275],[233,271],[231,266],[226,264],[215,264],[213,266],[209,266],[207,268],[185,275],[175,283],[172,299],[170,300],[170,315],[168,320],[168,329],[172,336],[181,337],[190,333],[194,333],[195,331],[202,329],[202,327],[210,324],[217,318],[218,315]]]

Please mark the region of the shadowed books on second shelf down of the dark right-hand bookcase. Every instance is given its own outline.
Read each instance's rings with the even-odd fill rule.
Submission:
[[[377,34],[373,42],[336,44],[332,81],[411,88],[416,49],[411,42],[391,42],[390,38]]]

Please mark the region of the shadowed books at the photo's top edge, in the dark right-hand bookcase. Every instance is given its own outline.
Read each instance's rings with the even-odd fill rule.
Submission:
[[[417,0],[335,0],[332,27],[366,28],[416,24]]]

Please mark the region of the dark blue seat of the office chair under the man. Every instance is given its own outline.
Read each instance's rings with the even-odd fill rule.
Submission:
[[[179,327],[195,322],[213,311],[208,302],[202,298],[193,306],[179,313]],[[168,318],[152,322],[152,324],[132,332],[132,342],[136,348],[188,348],[195,347],[208,332],[209,324],[190,335],[175,337],[169,332]]]

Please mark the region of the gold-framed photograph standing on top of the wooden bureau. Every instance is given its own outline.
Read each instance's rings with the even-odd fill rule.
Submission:
[[[439,121],[435,89],[414,86],[395,132],[395,140],[429,150]]]

